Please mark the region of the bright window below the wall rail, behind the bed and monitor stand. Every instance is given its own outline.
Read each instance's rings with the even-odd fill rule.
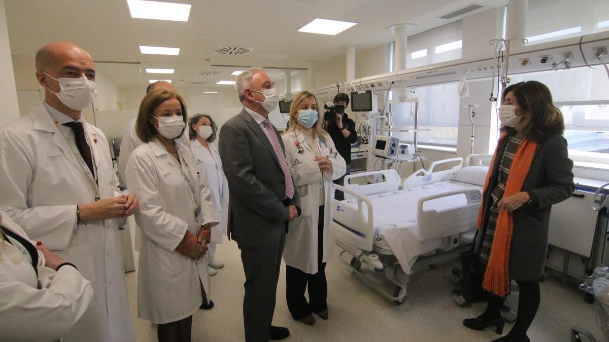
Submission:
[[[418,144],[435,147],[457,147],[457,129],[459,126],[460,98],[458,83],[425,86],[412,91],[411,97],[418,97],[418,128],[429,128],[429,131],[417,134]],[[392,121],[395,129],[414,128],[414,103],[391,103]],[[413,142],[414,133],[393,132],[392,136],[400,141]]]

